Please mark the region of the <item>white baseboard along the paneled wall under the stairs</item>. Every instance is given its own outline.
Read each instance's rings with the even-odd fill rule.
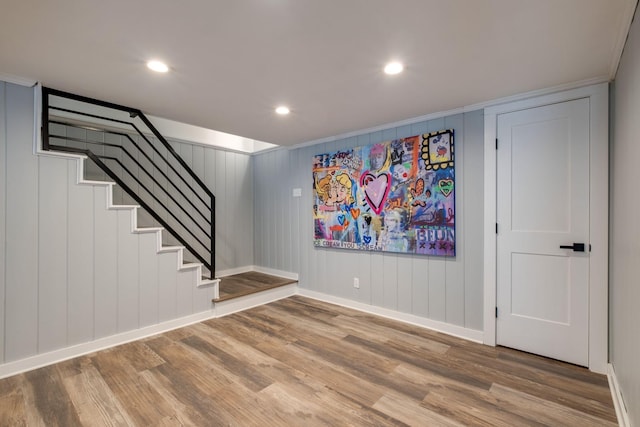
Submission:
[[[213,317],[215,317],[215,312],[213,310],[207,310],[189,316],[181,317],[179,319],[173,319],[166,322],[158,323],[156,325],[146,326],[140,329],[134,329],[132,331],[122,332],[116,335],[110,335],[108,337],[100,338],[95,341],[61,348],[60,350],[53,350],[48,353],[38,354],[35,356],[27,357],[25,359],[16,360],[15,362],[8,362],[0,365],[0,379],[20,374],[22,372],[31,371],[33,369],[38,369],[43,366],[51,365],[53,363],[59,363],[65,360],[73,359],[74,357],[84,356],[89,353],[105,350],[117,345],[126,344],[131,341],[147,338],[152,335],[171,331],[173,329],[182,328],[184,326],[202,322]]]

